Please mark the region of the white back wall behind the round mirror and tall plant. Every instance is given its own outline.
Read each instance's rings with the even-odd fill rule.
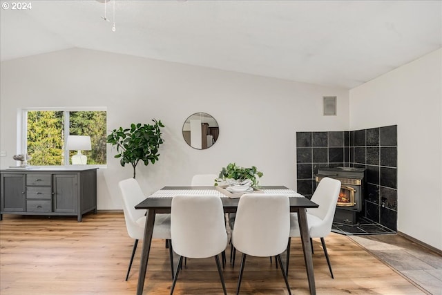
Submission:
[[[17,108],[107,106],[108,130],[162,120],[165,143],[155,165],[137,167],[144,193],[188,185],[195,173],[218,174],[236,162],[255,165],[261,184],[296,189],[296,131],[348,129],[348,91],[142,59],[70,49],[1,63],[1,168],[15,165]],[[338,116],[322,115],[323,96],[338,97]],[[209,113],[220,125],[210,149],[186,144],[189,115]],[[132,177],[108,146],[107,169],[98,173],[98,209],[120,209],[117,182]]]

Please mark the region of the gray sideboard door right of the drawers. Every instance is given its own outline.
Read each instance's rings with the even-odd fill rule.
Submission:
[[[78,179],[77,174],[54,174],[54,212],[77,213]]]

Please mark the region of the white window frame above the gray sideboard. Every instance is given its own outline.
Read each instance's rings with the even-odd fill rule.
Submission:
[[[107,107],[106,106],[84,106],[84,107],[34,107],[34,108],[18,108],[17,109],[17,153],[28,153],[28,111],[63,111],[64,122],[69,122],[69,112],[78,111],[104,111],[106,112],[106,133],[107,133]],[[69,134],[69,124],[64,124],[64,134]],[[68,137],[64,137],[64,146]],[[107,146],[106,146],[107,149]],[[107,168],[107,152],[106,164],[86,164],[88,167]],[[69,164],[69,151],[64,150],[64,164],[63,165],[48,165],[40,167],[64,167],[73,166]]]

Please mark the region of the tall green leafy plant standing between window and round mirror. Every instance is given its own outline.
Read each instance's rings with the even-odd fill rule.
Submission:
[[[164,127],[161,120],[152,120],[155,124],[131,124],[130,129],[114,129],[108,137],[106,142],[117,146],[117,155],[119,163],[124,166],[130,163],[133,166],[133,178],[135,178],[135,167],[138,162],[144,162],[148,165],[149,162],[155,164],[158,160],[158,149],[160,144],[164,142],[162,139],[160,127]]]

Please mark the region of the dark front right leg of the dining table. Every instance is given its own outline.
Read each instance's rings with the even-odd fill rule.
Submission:
[[[313,269],[313,258],[311,258],[309,225],[307,224],[307,213],[305,208],[298,209],[298,222],[301,234],[302,250],[304,251],[305,267],[307,269],[307,278],[309,280],[310,294],[315,295],[315,274]]]

